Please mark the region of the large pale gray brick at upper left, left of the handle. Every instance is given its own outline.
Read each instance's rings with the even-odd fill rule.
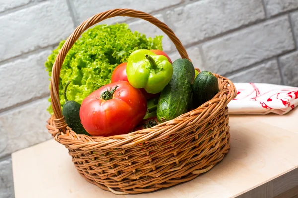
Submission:
[[[51,0],[0,17],[0,61],[66,39],[73,31],[66,1]]]

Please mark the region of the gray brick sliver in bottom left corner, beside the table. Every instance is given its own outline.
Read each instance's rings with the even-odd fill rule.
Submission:
[[[0,198],[14,198],[11,157],[0,162]]]

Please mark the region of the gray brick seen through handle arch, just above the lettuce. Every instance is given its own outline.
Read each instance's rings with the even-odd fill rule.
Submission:
[[[154,17],[159,19],[161,22],[164,22],[164,19],[161,14],[158,14]],[[162,38],[163,51],[168,52],[168,51],[172,50],[172,41],[170,40],[170,38],[162,30],[160,30],[158,27],[156,27],[152,23],[141,19],[141,20],[130,23],[129,28],[132,31],[138,31],[140,33],[145,34],[146,37],[153,38],[156,35],[163,35],[163,38]]]

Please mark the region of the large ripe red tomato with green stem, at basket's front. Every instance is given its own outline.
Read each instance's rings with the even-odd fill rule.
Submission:
[[[141,91],[127,81],[117,81],[87,96],[79,116],[90,135],[113,136],[131,132],[146,110],[147,102]]]

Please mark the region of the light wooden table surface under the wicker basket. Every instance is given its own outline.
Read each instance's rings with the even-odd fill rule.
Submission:
[[[298,185],[298,108],[230,116],[231,150],[209,172],[152,193],[114,195],[85,181],[53,139],[12,154],[16,198],[230,198],[277,196]]]

